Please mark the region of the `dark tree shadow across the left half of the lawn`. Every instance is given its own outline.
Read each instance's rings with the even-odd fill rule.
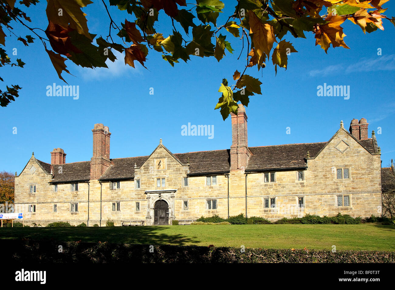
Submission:
[[[199,240],[173,234],[167,226],[0,228],[1,239],[109,242],[150,245],[191,245]]]

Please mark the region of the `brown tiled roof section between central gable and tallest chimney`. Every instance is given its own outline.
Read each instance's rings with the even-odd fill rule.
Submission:
[[[230,150],[176,153],[184,164],[188,163],[189,174],[210,174],[230,171]]]

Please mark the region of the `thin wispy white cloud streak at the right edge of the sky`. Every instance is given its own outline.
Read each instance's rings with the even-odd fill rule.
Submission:
[[[339,70],[345,73],[366,72],[366,71],[391,71],[395,70],[395,54],[388,56],[378,56],[374,58],[361,58],[357,63],[345,67],[342,64],[328,65],[322,69],[315,69],[308,72],[310,77],[326,76],[332,73],[339,73]]]

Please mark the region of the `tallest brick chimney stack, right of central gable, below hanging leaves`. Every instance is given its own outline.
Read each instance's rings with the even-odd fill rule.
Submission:
[[[247,167],[251,152],[248,149],[247,115],[242,104],[239,104],[237,115],[231,113],[231,119],[230,170],[243,170]]]

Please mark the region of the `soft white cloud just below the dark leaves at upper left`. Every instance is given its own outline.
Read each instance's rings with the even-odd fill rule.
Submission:
[[[107,59],[105,62],[107,67],[97,67],[96,69],[91,69],[89,67],[78,67],[77,71],[79,76],[84,80],[105,80],[115,77],[127,77],[131,75],[141,74],[141,67],[139,67],[138,62],[135,62],[135,69],[130,65],[125,65],[124,58],[125,54],[118,51],[112,50],[114,55],[117,57],[115,62]]]

